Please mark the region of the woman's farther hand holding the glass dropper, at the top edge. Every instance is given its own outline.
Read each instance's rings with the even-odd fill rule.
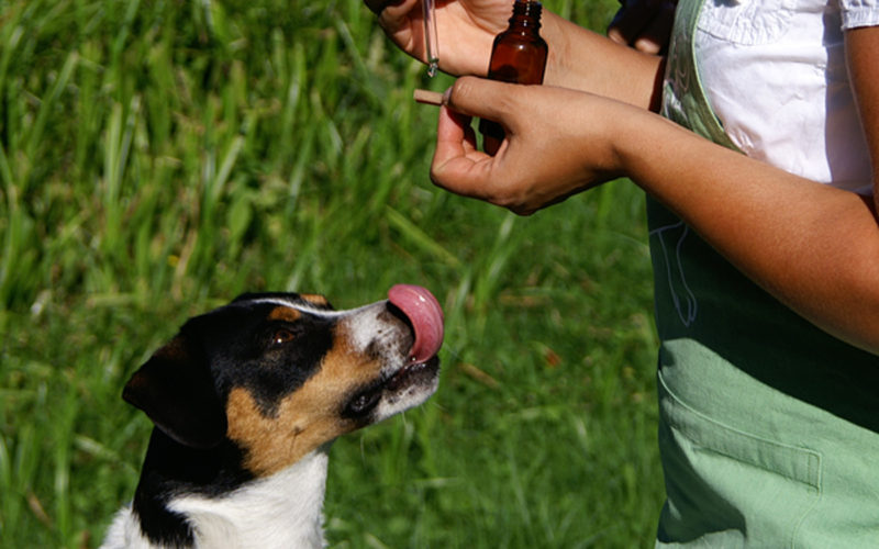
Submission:
[[[426,63],[421,0],[364,0],[385,34],[412,57]],[[507,29],[510,0],[436,1],[439,69],[452,75],[488,71],[494,36]]]

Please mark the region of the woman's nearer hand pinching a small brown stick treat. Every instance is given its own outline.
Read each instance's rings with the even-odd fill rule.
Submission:
[[[472,77],[446,92],[439,115],[434,182],[519,214],[530,214],[621,175],[614,138],[624,117],[644,110],[585,92]],[[507,134],[494,156],[477,149],[471,116]]]

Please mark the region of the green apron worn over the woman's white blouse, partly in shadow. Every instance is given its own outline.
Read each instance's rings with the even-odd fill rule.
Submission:
[[[678,3],[663,110],[735,148],[699,80],[701,7]],[[879,548],[879,357],[792,313],[653,200],[648,220],[667,492],[656,546]]]

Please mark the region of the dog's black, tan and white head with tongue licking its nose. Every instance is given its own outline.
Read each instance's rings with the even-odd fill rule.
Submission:
[[[189,320],[123,397],[177,442],[225,439],[262,477],[436,390],[443,313],[420,287],[334,311],[322,296],[246,294]]]

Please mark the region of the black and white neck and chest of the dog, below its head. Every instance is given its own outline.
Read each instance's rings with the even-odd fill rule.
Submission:
[[[227,466],[238,461],[229,459],[235,448],[216,461],[215,449],[202,456],[154,433],[133,507],[116,516],[104,547],[323,547],[329,446],[254,479]]]

